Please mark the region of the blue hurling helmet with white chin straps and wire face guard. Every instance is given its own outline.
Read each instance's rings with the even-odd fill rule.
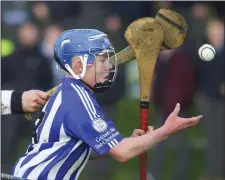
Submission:
[[[107,34],[96,29],[67,30],[58,37],[54,46],[54,59],[59,66],[70,73],[75,79],[80,80],[85,75],[86,66],[94,64],[96,55],[103,55],[105,53],[107,53],[109,58],[109,53],[114,53],[115,55],[115,50],[109,42]],[[75,74],[71,68],[71,60],[74,56],[79,56],[83,64],[83,71],[79,75]],[[108,71],[107,80],[103,83],[96,82],[94,88],[81,81],[95,92],[105,91],[115,81],[117,75],[116,62],[115,55],[115,63],[113,68]]]

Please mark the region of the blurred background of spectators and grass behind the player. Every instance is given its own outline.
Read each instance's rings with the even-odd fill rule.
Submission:
[[[126,27],[140,17],[155,17],[161,8],[180,13],[187,21],[188,34],[181,48],[160,53],[149,125],[161,126],[177,102],[181,103],[182,116],[205,116],[195,127],[179,133],[185,134],[179,140],[173,136],[160,143],[165,151],[157,146],[148,152],[148,180],[224,180],[224,2],[1,1],[1,88],[47,91],[65,76],[53,60],[55,40],[63,31],[99,29],[108,34],[119,52],[128,45],[124,38]],[[199,47],[205,43],[217,52],[210,63],[198,56]],[[115,85],[97,98],[119,132],[131,136],[139,128],[136,62],[120,66]],[[11,172],[30,144],[31,135],[32,123],[23,116],[1,116],[2,172]],[[154,159],[156,155],[162,157],[161,161]],[[89,161],[80,179],[138,180],[139,158],[127,163],[110,157]]]

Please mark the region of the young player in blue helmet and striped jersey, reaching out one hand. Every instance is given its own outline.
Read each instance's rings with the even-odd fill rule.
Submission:
[[[78,179],[91,152],[125,162],[202,117],[178,117],[177,104],[161,128],[147,133],[136,130],[132,137],[122,137],[95,98],[95,93],[113,85],[117,74],[116,65],[109,61],[115,51],[107,35],[95,29],[67,30],[57,39],[54,52],[67,78],[36,121],[33,142],[15,164],[15,176]]]

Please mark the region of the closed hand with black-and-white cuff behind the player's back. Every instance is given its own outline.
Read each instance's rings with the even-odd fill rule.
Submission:
[[[22,94],[22,107],[24,112],[35,112],[42,108],[49,96],[40,90],[24,91]]]

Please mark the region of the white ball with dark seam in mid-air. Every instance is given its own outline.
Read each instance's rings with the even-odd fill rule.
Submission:
[[[212,61],[216,56],[216,51],[210,44],[203,44],[199,50],[198,55],[203,61]]]

